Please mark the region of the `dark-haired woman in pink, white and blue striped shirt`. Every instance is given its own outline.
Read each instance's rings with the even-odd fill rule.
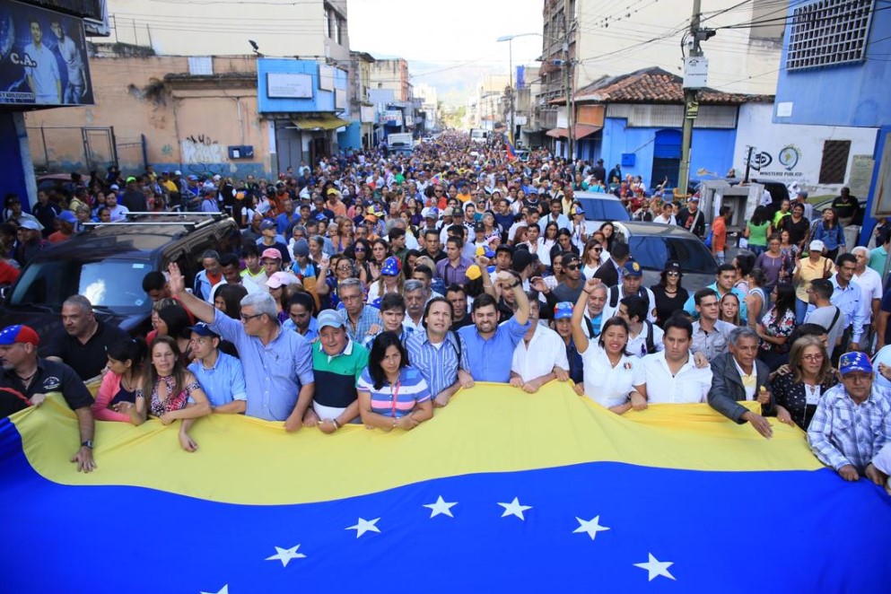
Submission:
[[[433,415],[430,389],[394,332],[381,332],[371,343],[368,367],[356,382],[359,415],[366,427],[410,431]]]

